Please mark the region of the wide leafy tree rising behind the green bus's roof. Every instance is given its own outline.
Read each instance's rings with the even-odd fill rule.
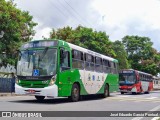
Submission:
[[[92,28],[78,26],[64,27],[62,29],[52,30],[50,33],[51,39],[62,39],[75,45],[90,49],[92,51],[115,57],[115,52],[112,49],[112,42],[105,32],[93,31]]]

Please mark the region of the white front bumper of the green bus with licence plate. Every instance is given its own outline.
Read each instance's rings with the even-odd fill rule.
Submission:
[[[48,86],[45,88],[23,88],[15,84],[15,93],[21,95],[37,95],[37,96],[58,96],[57,85]]]

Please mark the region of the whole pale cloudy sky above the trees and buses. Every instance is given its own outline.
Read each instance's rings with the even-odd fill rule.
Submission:
[[[149,37],[160,51],[160,0],[14,0],[29,11],[34,39],[48,38],[51,30],[78,25],[104,31],[111,41],[126,35]]]

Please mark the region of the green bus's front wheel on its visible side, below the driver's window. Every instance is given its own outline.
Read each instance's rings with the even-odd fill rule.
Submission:
[[[78,84],[73,84],[71,96],[69,97],[69,99],[72,102],[77,102],[79,100],[79,98],[80,98],[80,88],[79,88]]]

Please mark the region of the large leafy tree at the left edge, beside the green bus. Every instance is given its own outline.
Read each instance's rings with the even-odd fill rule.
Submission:
[[[0,54],[6,54],[3,65],[14,64],[13,54],[23,42],[31,40],[31,36],[35,34],[33,27],[37,24],[32,19],[29,12],[17,9],[12,1],[0,1],[0,32],[4,33],[0,38]]]

